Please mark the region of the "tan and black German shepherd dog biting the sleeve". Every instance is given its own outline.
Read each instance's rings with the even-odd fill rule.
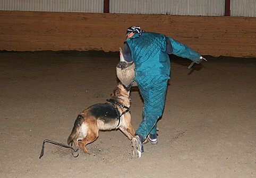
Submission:
[[[75,120],[67,144],[73,142],[75,147],[80,146],[84,153],[89,153],[86,145],[98,138],[99,130],[120,129],[131,140],[134,137],[130,113],[131,87],[132,84],[125,87],[118,83],[106,103],[95,104],[82,111]]]

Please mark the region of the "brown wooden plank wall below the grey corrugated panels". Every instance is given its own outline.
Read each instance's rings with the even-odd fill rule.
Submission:
[[[133,25],[201,55],[256,57],[256,18],[228,16],[0,11],[0,50],[118,51]]]

